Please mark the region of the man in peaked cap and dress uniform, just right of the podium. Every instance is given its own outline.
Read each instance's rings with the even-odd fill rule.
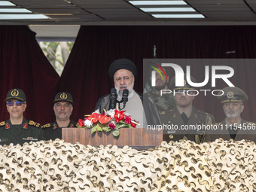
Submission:
[[[190,79],[196,83],[193,77],[190,77]],[[194,87],[187,84],[186,79],[184,79],[183,87],[176,87],[175,77],[173,77],[170,87],[172,88],[176,105],[171,110],[163,111],[160,114],[162,123],[168,127],[163,129],[163,140],[169,142],[171,140],[188,139],[198,144],[204,142],[205,130],[203,130],[203,126],[215,123],[214,117],[194,108]]]

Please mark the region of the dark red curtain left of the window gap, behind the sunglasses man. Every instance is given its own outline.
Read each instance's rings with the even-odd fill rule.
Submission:
[[[26,94],[26,119],[38,123],[54,120],[53,98],[59,75],[44,56],[35,32],[27,26],[0,26],[1,120],[8,120],[8,90],[20,88]]]

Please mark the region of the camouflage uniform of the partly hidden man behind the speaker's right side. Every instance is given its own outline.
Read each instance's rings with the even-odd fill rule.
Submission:
[[[160,96],[160,92],[154,89],[145,94],[154,100],[154,104],[157,106],[157,111],[159,112],[170,110],[175,106],[175,100],[172,94],[163,94]]]

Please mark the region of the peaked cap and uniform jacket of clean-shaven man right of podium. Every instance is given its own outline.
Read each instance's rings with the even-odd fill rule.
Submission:
[[[186,94],[186,91],[194,90],[194,87],[187,84],[186,78],[187,75],[184,75],[184,85],[181,87],[176,87],[175,76],[172,78],[170,87],[173,90],[173,93]],[[192,76],[190,76],[190,79],[193,82],[197,82]],[[187,114],[185,113],[180,114],[177,106],[169,111],[163,111],[160,114],[162,123],[170,128],[164,129],[163,127],[163,141],[169,142],[188,139],[198,144],[204,142],[206,136],[204,126],[209,126],[212,125],[212,123],[215,123],[214,117],[211,114],[207,114],[204,111],[194,108],[193,105],[186,110],[191,111],[190,117],[187,117]]]

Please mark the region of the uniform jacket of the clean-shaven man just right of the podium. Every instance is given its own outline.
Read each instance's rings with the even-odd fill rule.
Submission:
[[[191,130],[181,130],[181,126],[184,126],[184,120],[181,117],[177,107],[172,108],[169,111],[165,111],[160,115],[161,121],[169,127],[178,128],[178,130],[163,130],[163,141],[179,141],[180,139],[188,139],[193,142],[201,143],[205,139],[205,130],[197,130],[200,125],[211,125],[215,123],[215,119],[211,114],[207,114],[204,111],[200,111],[197,108],[192,108],[192,113],[187,121],[187,126],[194,128]]]

